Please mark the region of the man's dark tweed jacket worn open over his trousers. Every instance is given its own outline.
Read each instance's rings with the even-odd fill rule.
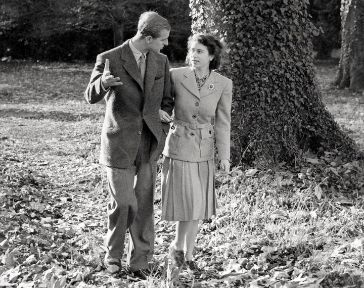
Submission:
[[[100,163],[115,168],[127,168],[134,162],[141,140],[143,122],[153,135],[150,159],[156,160],[163,150],[166,138],[158,111],[162,109],[171,115],[173,110],[167,57],[160,53],[148,53],[143,85],[138,64],[128,41],[97,56],[84,93],[89,104],[105,99],[106,112],[101,132]],[[111,74],[120,77],[123,83],[120,86],[109,87],[107,91],[103,91],[101,87],[105,59],[109,59]]]

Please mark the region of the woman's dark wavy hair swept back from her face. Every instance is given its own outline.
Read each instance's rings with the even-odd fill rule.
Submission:
[[[194,34],[190,36],[188,40],[187,46],[189,51],[191,49],[193,42],[198,42],[206,46],[209,55],[214,56],[214,58],[210,62],[209,66],[210,70],[219,68],[221,62],[221,51],[222,51],[221,42],[212,35]],[[190,63],[190,53],[187,53],[186,62]]]

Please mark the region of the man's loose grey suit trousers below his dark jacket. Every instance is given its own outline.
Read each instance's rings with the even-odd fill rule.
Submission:
[[[127,266],[131,271],[148,269],[154,251],[154,188],[157,161],[149,161],[152,133],[146,124],[136,159],[129,168],[106,167],[110,204],[106,247],[121,259],[129,229]]]

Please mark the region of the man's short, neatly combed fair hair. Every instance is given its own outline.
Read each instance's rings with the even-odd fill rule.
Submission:
[[[152,36],[153,38],[158,38],[163,29],[170,30],[171,26],[169,22],[157,12],[144,12],[139,17],[138,32],[143,37]]]

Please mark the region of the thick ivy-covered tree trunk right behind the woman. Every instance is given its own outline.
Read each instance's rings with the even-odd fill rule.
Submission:
[[[352,158],[356,148],[315,82],[308,0],[191,0],[193,32],[224,39],[233,80],[232,160],[294,165],[306,151]]]

